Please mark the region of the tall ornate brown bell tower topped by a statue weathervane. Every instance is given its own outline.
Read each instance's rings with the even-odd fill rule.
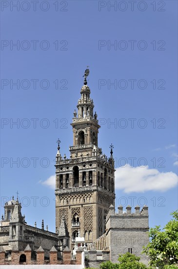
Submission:
[[[92,243],[105,233],[105,216],[111,204],[115,206],[115,169],[113,146],[107,158],[98,146],[99,124],[85,70],[84,85],[72,120],[73,146],[70,158],[56,155],[56,229],[61,220],[70,235],[70,247],[80,231],[86,243]]]

